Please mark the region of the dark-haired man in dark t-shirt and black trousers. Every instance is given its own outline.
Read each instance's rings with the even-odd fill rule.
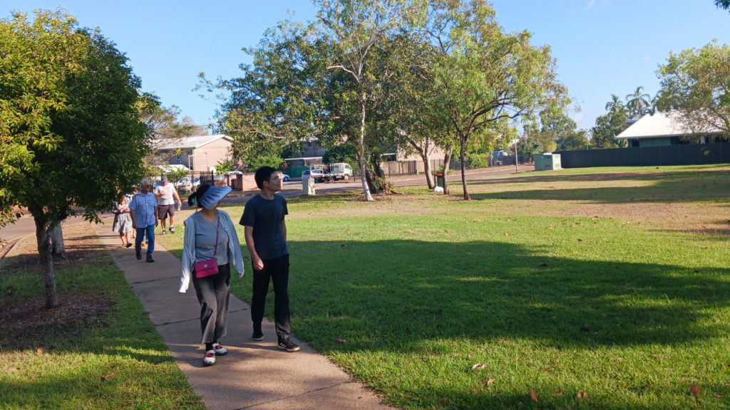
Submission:
[[[270,279],[274,282],[274,323],[279,349],[296,352],[299,346],[289,339],[289,250],[284,220],[289,212],[284,197],[277,195],[281,190],[281,179],[276,169],[270,166],[258,169],[253,178],[261,193],[246,203],[240,221],[245,226],[246,246],[253,261],[253,340],[264,339],[261,321],[264,320]]]

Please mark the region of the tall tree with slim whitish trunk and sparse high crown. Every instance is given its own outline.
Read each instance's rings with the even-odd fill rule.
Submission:
[[[366,181],[366,125],[368,112],[387,96],[383,83],[391,80],[392,73],[376,63],[374,48],[383,45],[387,37],[406,26],[418,16],[423,7],[410,0],[318,0],[318,18],[327,34],[334,39],[334,63],[328,69],[344,71],[356,83],[359,108],[359,132],[356,152],[362,170],[362,186],[366,201],[372,201]]]

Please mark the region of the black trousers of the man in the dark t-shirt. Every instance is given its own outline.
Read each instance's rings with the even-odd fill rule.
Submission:
[[[261,325],[264,320],[266,293],[269,292],[269,279],[274,282],[274,323],[279,339],[287,339],[291,333],[289,317],[289,254],[276,259],[264,259],[264,268],[253,268],[253,298],[251,300],[251,320],[253,325]]]

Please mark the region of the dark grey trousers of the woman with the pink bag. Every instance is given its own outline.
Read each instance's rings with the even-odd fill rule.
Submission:
[[[231,283],[231,266],[218,265],[218,274],[198,278],[193,270],[193,287],[200,302],[201,343],[220,340],[228,327],[228,292]]]

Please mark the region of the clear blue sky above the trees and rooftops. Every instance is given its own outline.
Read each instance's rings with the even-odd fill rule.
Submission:
[[[623,98],[638,85],[652,96],[656,69],[669,55],[712,39],[730,43],[730,12],[712,0],[495,0],[507,31],[529,30],[534,44],[550,45],[560,79],[582,108],[573,113],[590,128],[612,93]],[[177,105],[196,123],[208,123],[215,105],[192,89],[199,72],[234,77],[250,62],[241,47],[258,43],[266,28],[296,11],[315,15],[307,0],[88,1],[3,0],[10,10],[69,9],[82,26],[99,26],[127,54],[145,91]]]

